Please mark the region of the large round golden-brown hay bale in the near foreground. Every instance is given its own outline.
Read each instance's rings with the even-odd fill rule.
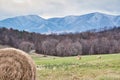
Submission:
[[[36,80],[31,57],[18,49],[0,49],[0,80]]]

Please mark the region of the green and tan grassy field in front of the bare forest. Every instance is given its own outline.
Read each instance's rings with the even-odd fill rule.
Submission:
[[[37,80],[120,80],[120,54],[76,57],[31,55],[37,64]]]

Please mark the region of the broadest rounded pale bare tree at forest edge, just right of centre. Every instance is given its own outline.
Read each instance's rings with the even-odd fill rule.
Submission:
[[[80,42],[72,42],[70,39],[61,41],[57,47],[57,53],[60,56],[72,56],[82,54],[82,45]]]

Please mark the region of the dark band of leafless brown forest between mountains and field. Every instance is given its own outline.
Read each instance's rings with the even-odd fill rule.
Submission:
[[[120,27],[69,34],[39,34],[0,28],[0,44],[38,54],[75,56],[120,52]]]

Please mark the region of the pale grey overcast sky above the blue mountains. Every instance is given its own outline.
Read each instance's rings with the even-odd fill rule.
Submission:
[[[20,15],[50,18],[91,12],[120,15],[120,0],[0,0],[0,19]]]

